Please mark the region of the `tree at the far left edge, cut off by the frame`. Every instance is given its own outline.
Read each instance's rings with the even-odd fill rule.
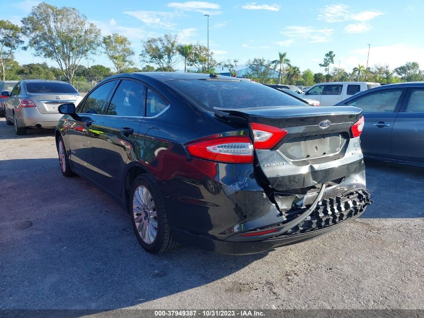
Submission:
[[[14,60],[14,52],[24,43],[21,28],[7,20],[0,20],[0,66],[3,80],[6,79],[6,65]]]

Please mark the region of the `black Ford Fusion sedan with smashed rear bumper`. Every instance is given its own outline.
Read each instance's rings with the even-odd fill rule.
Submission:
[[[128,210],[140,245],[249,254],[312,239],[370,203],[362,112],[198,73],[114,75],[56,129],[62,173]]]

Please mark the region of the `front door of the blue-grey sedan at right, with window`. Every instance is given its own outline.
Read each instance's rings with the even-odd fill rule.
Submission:
[[[404,94],[403,88],[381,89],[346,103],[361,108],[364,113],[365,126],[361,134],[364,155],[391,157],[390,140],[393,124]]]

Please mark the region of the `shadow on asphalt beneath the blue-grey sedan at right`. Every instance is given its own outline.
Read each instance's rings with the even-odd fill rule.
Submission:
[[[422,218],[424,168],[365,160],[367,188],[373,204],[362,218]],[[399,186],[407,184],[407,187]]]

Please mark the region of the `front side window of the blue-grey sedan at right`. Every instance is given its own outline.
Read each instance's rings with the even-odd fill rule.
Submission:
[[[364,113],[393,113],[401,94],[401,89],[370,93],[348,102],[347,105],[359,107]]]

